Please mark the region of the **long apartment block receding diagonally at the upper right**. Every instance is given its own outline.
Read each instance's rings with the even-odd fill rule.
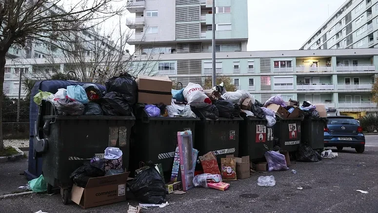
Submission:
[[[300,49],[346,48],[378,48],[378,0],[347,0]]]

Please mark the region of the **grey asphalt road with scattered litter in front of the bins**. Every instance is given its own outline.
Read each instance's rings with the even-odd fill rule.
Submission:
[[[339,151],[336,159],[324,159],[317,163],[292,162],[289,171],[255,173],[251,178],[230,182],[231,187],[225,192],[196,188],[184,195],[168,195],[169,206],[142,212],[377,213],[378,136],[366,138],[363,154],[347,148]],[[23,163],[25,168],[27,161]],[[4,168],[9,167],[0,167],[1,181],[10,178],[4,175],[7,173]],[[292,174],[292,169],[297,174]],[[19,175],[18,172],[10,174]],[[260,175],[274,175],[276,186],[259,187],[257,179]],[[16,182],[18,179],[18,176],[14,178]],[[15,187],[19,185],[17,182]],[[2,191],[4,185],[0,187]],[[0,200],[0,212],[35,213],[42,210],[47,213],[125,213],[128,202],[136,205],[136,202],[126,201],[84,210],[74,203],[63,205],[60,194],[31,194]]]

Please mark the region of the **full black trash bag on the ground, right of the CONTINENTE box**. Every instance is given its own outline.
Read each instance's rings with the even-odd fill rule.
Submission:
[[[135,176],[130,191],[143,203],[161,204],[165,201],[165,182],[154,166]]]

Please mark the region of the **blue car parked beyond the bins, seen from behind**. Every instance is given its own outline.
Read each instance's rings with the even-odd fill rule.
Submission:
[[[329,116],[327,127],[324,128],[324,147],[352,147],[356,152],[365,150],[365,136],[362,127],[353,117]]]

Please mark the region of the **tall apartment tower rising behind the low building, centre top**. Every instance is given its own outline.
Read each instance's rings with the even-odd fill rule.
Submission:
[[[246,51],[247,0],[216,0],[215,4],[216,50]],[[212,0],[128,0],[127,5],[136,16],[126,19],[126,25],[135,30],[128,43],[136,45],[140,54],[211,52]]]

